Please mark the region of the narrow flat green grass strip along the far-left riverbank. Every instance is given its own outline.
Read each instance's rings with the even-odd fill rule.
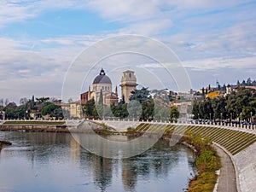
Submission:
[[[37,121],[37,120],[22,120],[22,121],[5,121],[3,125],[64,125],[65,121]]]

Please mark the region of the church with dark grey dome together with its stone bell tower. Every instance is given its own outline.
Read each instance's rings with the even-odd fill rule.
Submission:
[[[134,72],[127,70],[123,72],[121,78],[121,97],[120,99],[125,99],[125,102],[129,102],[129,97],[131,96],[131,90],[136,90],[137,87],[137,78],[134,75]],[[85,104],[90,99],[94,98],[96,103],[99,103],[102,95],[103,105],[110,106],[112,103],[118,105],[119,96],[118,88],[115,87],[113,92],[111,79],[106,75],[105,71],[102,69],[99,75],[93,80],[92,90],[90,90],[90,85],[88,91],[80,95],[81,104]]]

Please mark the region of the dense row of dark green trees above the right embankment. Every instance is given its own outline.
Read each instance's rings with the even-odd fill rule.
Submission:
[[[194,119],[253,119],[256,113],[256,90],[238,88],[227,96],[193,102]]]

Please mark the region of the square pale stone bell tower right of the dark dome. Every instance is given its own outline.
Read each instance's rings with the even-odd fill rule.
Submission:
[[[133,71],[127,70],[123,72],[120,86],[122,97],[124,96],[125,102],[128,103],[129,97],[131,96],[131,90],[136,90],[137,86],[137,79]]]

